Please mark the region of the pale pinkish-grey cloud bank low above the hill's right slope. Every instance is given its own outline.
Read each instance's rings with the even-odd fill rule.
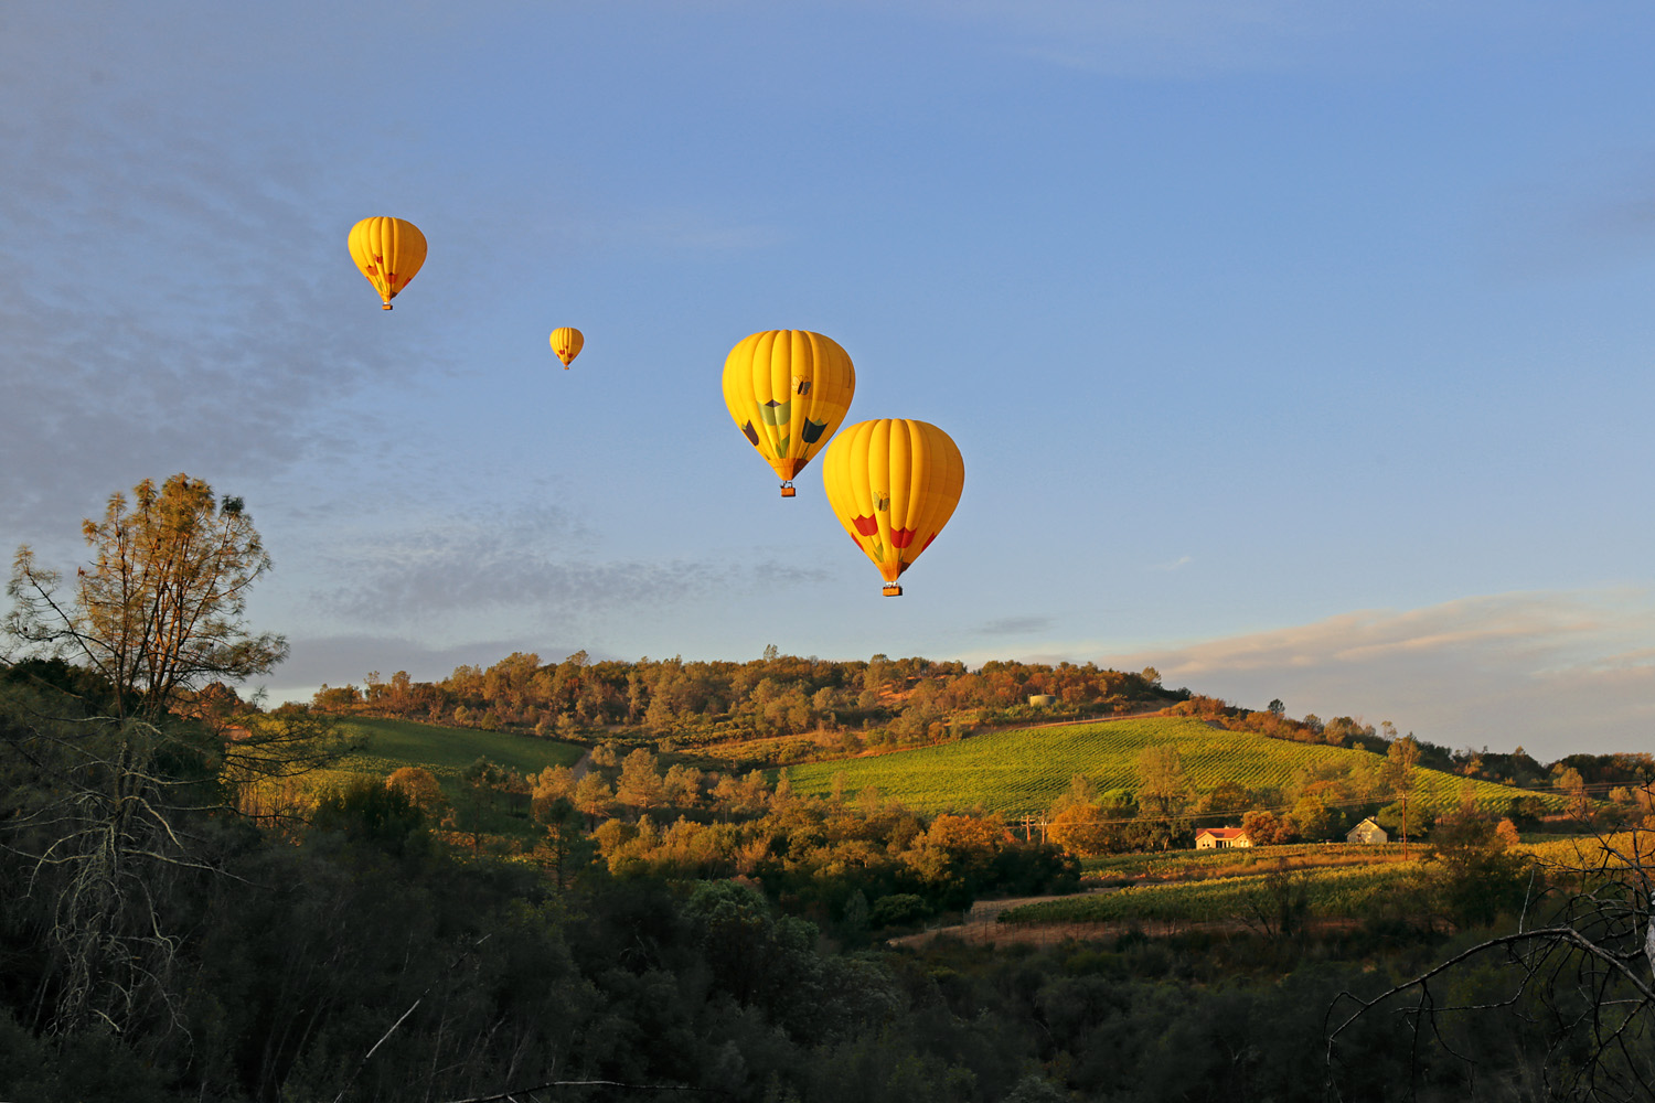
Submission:
[[[1294,714],[1392,719],[1448,746],[1655,749],[1655,595],[1643,589],[1468,597],[1099,657],[1167,685]]]

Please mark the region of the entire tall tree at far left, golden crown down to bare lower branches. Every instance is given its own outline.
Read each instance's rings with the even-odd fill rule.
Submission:
[[[223,807],[218,774],[268,777],[291,767],[283,747],[314,761],[318,744],[283,724],[227,742],[195,718],[210,685],[286,655],[281,637],[243,625],[270,557],[240,498],[215,504],[187,475],[159,489],[146,480],[83,532],[93,556],[68,595],[26,546],[7,587],[7,632],[73,660],[86,691],[36,685],[33,700],[0,700],[0,772],[20,771],[0,848],[31,865],[26,891],[45,903],[51,1029],[119,1032],[174,999],[182,936],[161,901],[215,865],[202,827]]]

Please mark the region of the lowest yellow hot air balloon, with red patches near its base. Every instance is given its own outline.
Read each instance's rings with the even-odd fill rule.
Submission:
[[[884,575],[885,597],[902,597],[897,577],[960,504],[965,461],[930,422],[857,422],[829,445],[823,486],[839,524]]]

